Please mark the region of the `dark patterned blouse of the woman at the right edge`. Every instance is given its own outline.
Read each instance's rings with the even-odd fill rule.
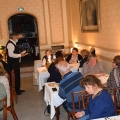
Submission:
[[[107,88],[109,94],[114,95],[114,88],[120,88],[120,67],[113,68],[107,80]],[[117,91],[117,106],[120,106],[120,91]]]

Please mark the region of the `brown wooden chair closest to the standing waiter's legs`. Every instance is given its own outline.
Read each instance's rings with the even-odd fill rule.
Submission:
[[[11,72],[11,78],[12,78],[12,85],[10,86],[10,106],[7,107],[7,110],[11,112],[14,120],[18,120],[18,117],[14,109],[14,99],[18,99],[15,91],[14,70],[12,70]]]

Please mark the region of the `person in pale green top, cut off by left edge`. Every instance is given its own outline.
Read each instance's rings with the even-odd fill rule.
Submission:
[[[6,90],[2,83],[0,83],[0,100],[6,96]],[[0,120],[3,120],[3,103],[0,103]]]

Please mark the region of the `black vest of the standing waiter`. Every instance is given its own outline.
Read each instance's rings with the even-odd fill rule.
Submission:
[[[19,54],[19,50],[18,50],[18,47],[17,47],[12,41],[9,40],[9,41],[7,42],[7,44],[6,44],[7,62],[8,62],[9,65],[13,66],[13,65],[15,65],[15,64],[19,64],[19,58],[13,58],[13,57],[10,57],[10,56],[8,55],[7,45],[8,45],[9,43],[12,43],[12,44],[14,45],[14,47],[15,47],[15,50],[13,51],[13,53]]]

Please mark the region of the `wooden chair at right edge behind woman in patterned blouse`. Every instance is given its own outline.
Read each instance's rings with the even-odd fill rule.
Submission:
[[[115,105],[116,115],[120,113],[120,108],[117,108],[118,100],[120,101],[120,88],[114,88],[114,105]]]

